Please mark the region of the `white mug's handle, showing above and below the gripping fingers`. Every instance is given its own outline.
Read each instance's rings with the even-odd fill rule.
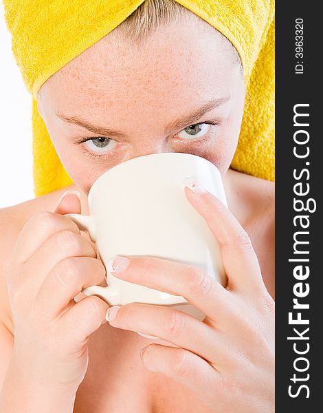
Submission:
[[[63,217],[67,217],[76,223],[81,231],[87,231],[93,242],[96,242],[96,224],[91,215],[81,215],[79,213],[65,213]],[[111,306],[115,306],[118,300],[118,293],[112,291],[111,287],[91,286],[84,288],[82,293],[89,295],[98,295],[104,301],[107,301]]]

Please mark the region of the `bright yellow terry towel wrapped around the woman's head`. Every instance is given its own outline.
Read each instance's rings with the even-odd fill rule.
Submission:
[[[38,89],[143,1],[3,0],[12,50],[32,94],[36,196],[73,183],[38,114]],[[247,94],[232,168],[274,180],[274,0],[177,2],[224,34],[241,56]]]

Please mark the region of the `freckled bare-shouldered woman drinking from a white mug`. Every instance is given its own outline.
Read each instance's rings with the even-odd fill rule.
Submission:
[[[167,23],[135,41],[124,22],[38,91],[74,183],[1,211],[1,412],[274,411],[274,183],[230,169],[245,104],[241,61],[192,12],[153,3]],[[162,306],[74,301],[104,283],[105,268],[62,215],[89,213],[87,193],[107,169],[162,151],[221,171],[230,211],[198,182],[183,191],[221,244],[227,288],[168,260],[112,265],[122,279],[183,295],[203,321]]]

